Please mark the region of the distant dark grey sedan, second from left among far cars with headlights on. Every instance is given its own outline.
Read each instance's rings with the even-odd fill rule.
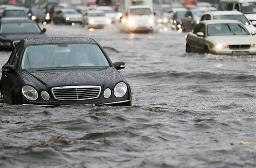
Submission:
[[[78,13],[75,9],[72,8],[62,8],[57,10],[52,16],[54,24],[71,24],[71,23],[80,23],[83,22],[83,15]]]

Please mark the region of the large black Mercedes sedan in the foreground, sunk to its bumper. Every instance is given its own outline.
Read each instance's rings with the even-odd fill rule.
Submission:
[[[131,89],[90,38],[21,40],[2,67],[1,95],[11,104],[131,105]]]

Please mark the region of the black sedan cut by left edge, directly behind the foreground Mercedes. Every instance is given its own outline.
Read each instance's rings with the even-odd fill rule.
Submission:
[[[46,29],[28,19],[4,19],[0,21],[0,50],[13,49],[12,43],[21,39],[43,38]]]

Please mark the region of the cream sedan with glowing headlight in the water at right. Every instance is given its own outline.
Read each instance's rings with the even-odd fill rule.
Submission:
[[[236,20],[201,21],[186,35],[186,52],[256,55],[255,34]]]

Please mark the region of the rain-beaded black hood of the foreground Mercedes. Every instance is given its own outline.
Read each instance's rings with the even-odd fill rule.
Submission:
[[[25,84],[36,88],[58,86],[96,85],[114,89],[116,83],[124,78],[114,67],[76,68],[65,70],[22,70],[20,73]]]

